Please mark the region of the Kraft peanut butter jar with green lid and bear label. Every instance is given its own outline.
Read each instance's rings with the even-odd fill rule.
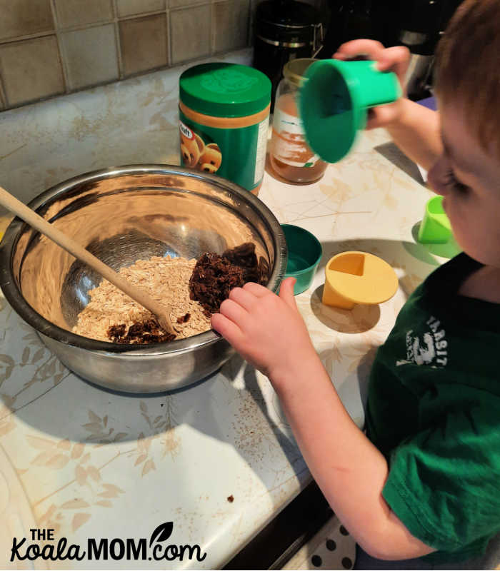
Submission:
[[[194,66],[179,79],[181,164],[259,193],[266,163],[271,81],[238,64]]]

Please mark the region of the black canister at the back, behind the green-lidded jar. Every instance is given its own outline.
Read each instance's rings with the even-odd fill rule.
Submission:
[[[256,9],[254,36],[253,66],[271,80],[274,102],[283,66],[310,58],[321,47],[319,12],[295,0],[264,0]]]

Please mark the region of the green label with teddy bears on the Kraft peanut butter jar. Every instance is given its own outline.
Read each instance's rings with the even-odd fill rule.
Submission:
[[[269,116],[241,128],[201,125],[179,111],[181,165],[216,173],[251,191],[262,181]]]

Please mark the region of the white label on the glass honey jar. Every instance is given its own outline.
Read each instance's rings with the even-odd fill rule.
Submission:
[[[278,106],[274,108],[271,153],[281,163],[309,168],[319,160],[306,143],[304,126],[299,117],[290,115]]]

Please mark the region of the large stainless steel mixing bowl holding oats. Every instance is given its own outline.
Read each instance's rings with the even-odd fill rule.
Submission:
[[[278,221],[258,198],[218,176],[176,166],[109,168],[54,186],[29,206],[115,271],[151,256],[198,258],[254,242],[267,287],[276,291],[284,276]],[[172,390],[214,373],[231,356],[213,330],[147,348],[71,333],[101,278],[19,218],[1,241],[0,268],[14,310],[92,383],[130,393]]]

